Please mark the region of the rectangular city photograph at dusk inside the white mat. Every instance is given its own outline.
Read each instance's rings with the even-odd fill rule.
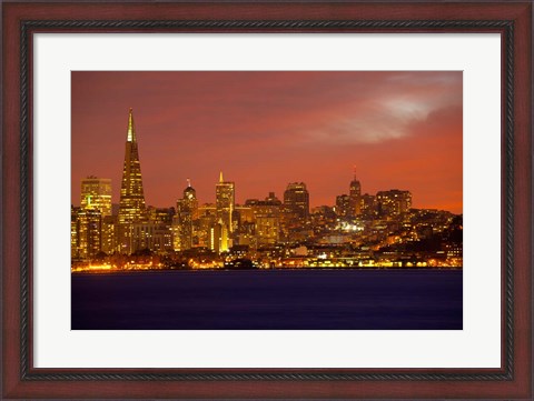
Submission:
[[[462,330],[462,71],[72,71],[72,330]]]

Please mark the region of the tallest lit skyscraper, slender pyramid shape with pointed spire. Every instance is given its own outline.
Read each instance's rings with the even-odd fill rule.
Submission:
[[[120,187],[118,243],[120,253],[131,253],[136,249],[132,241],[135,223],[146,221],[145,194],[142,191],[141,164],[134,124],[134,113],[129,110],[126,137],[125,166]]]

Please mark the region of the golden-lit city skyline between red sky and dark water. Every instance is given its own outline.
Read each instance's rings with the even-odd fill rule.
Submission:
[[[81,180],[81,207],[71,205],[73,271],[276,265],[423,268],[462,263],[461,214],[413,209],[407,190],[362,194],[356,173],[348,194],[336,196],[335,207],[319,207],[312,213],[305,182],[288,183],[284,201],[269,192],[264,200],[248,199],[239,205],[235,182],[225,180],[220,171],[215,192],[215,204],[199,207],[188,180],[176,209],[147,208],[130,108],[118,214],[110,214],[108,178],[91,176]],[[330,258],[337,254],[342,259],[327,261],[327,249]],[[117,260],[120,255],[142,259],[152,252],[164,257],[165,263],[161,259],[145,259],[141,263],[137,258],[126,263]],[[291,253],[306,258],[291,260]],[[194,254],[196,258],[190,258]],[[100,263],[93,265],[97,260]],[[118,264],[111,264],[113,260]]]

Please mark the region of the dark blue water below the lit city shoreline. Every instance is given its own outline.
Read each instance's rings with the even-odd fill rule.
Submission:
[[[73,330],[461,330],[459,270],[72,274]]]

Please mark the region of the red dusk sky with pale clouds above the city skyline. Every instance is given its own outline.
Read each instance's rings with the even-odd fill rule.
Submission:
[[[190,178],[215,202],[219,171],[236,202],[283,200],[305,182],[310,205],[348,193],[409,190],[414,208],[462,213],[462,72],[72,72],[71,202],[80,181],[112,180],[119,203],[128,109],[145,199],[176,207]]]

